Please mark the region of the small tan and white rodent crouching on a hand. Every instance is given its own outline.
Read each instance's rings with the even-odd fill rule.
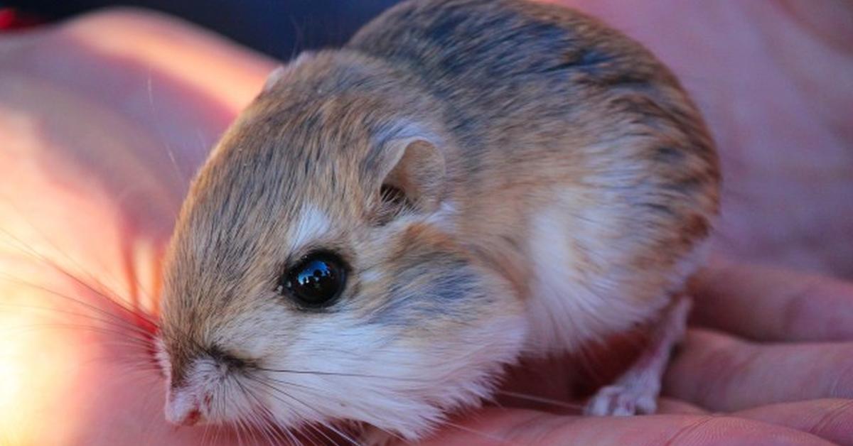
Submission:
[[[276,69],[195,178],[165,262],[166,418],[416,439],[520,357],[660,318],[653,361],[589,403],[653,411],[719,182],[639,43],[554,5],[400,3]]]

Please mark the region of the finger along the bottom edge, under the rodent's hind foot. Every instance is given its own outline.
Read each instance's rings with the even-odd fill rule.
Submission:
[[[831,444],[806,432],[710,415],[577,417],[490,409],[450,426],[425,445],[496,444]]]

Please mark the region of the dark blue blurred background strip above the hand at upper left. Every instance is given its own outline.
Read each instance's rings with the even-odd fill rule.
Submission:
[[[0,0],[39,19],[61,20],[107,6],[177,15],[281,60],[302,49],[344,43],[398,0]]]

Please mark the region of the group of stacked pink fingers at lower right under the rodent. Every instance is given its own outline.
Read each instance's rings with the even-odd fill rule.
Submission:
[[[428,444],[853,444],[853,283],[717,261],[691,293],[660,414],[571,414],[545,368],[540,410],[489,408]]]

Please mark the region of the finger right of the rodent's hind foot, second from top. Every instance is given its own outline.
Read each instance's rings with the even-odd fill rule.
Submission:
[[[853,398],[853,343],[756,345],[693,329],[664,375],[664,393],[724,411]]]

